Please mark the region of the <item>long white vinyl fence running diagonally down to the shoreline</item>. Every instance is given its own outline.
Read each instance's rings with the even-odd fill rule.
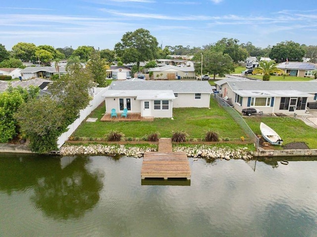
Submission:
[[[107,88],[94,88],[94,98],[89,102],[89,105],[80,110],[80,115],[79,118],[76,119],[71,125],[69,125],[68,131],[61,134],[59,138],[57,139],[57,147],[60,148],[65,141],[68,140],[68,138],[72,135],[72,133],[78,128],[78,126],[83,122],[87,116],[95,109],[98,107],[98,105],[103,102],[104,97],[102,96],[106,92]]]

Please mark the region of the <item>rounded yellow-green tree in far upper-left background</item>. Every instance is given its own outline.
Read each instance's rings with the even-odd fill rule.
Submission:
[[[36,60],[35,51],[37,47],[33,43],[17,43],[12,47],[12,53],[15,58],[23,62]]]

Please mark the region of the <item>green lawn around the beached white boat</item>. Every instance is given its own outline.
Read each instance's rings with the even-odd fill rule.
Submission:
[[[245,118],[255,134],[261,135],[260,123],[271,127],[283,139],[283,144],[306,142],[311,149],[317,148],[317,130],[299,119],[289,117],[248,117]]]

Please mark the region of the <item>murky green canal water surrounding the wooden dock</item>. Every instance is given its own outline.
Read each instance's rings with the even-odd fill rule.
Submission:
[[[0,154],[1,237],[316,237],[317,161],[189,159],[141,181],[142,159]]]

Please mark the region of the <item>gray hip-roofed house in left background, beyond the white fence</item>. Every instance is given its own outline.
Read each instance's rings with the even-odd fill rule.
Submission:
[[[59,67],[59,74],[67,74],[65,67]],[[23,80],[31,78],[51,78],[53,75],[58,74],[55,67],[26,67],[21,70]]]

